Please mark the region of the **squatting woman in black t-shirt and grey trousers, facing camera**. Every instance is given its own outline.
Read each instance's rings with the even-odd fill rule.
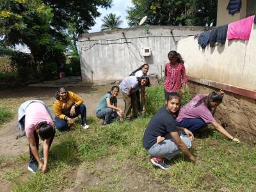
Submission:
[[[192,132],[175,126],[174,118],[179,108],[180,95],[170,93],[166,99],[166,106],[157,111],[144,132],[143,146],[152,156],[151,163],[163,170],[170,168],[164,159],[170,160],[180,152],[183,152],[190,161],[195,161],[195,157],[188,150],[194,139]],[[180,138],[178,131],[186,132],[189,138]]]

